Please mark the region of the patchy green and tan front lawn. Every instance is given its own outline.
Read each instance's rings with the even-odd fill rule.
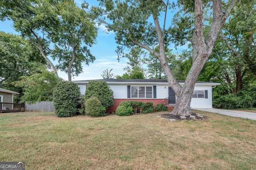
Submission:
[[[195,111],[201,121],[1,113],[0,162],[46,169],[256,169],[256,121]]]

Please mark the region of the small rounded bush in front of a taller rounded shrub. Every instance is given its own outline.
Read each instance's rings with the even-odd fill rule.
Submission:
[[[92,96],[84,103],[85,113],[90,116],[104,116],[106,107],[102,106],[100,100],[97,97]]]

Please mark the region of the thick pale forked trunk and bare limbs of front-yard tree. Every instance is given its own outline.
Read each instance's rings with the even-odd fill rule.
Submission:
[[[205,39],[202,31],[202,27],[203,27],[202,0],[195,0],[195,20],[194,20],[195,28],[194,28],[193,38],[192,38],[193,39],[192,40],[193,64],[188,73],[188,76],[186,78],[186,81],[183,87],[178,83],[178,81],[172,74],[172,71],[166,60],[164,34],[163,34],[164,28],[162,31],[158,21],[158,16],[156,15],[158,13],[156,11],[154,11],[152,14],[154,18],[154,24],[156,26],[156,33],[158,36],[159,53],[150,49],[150,47],[144,44],[141,44],[139,42],[136,42],[134,39],[130,38],[130,40],[132,40],[134,44],[144,49],[147,49],[151,54],[158,57],[160,64],[166,75],[166,79],[177,96],[176,106],[174,107],[174,110],[173,110],[173,113],[175,115],[182,115],[182,116],[190,115],[191,113],[190,102],[191,102],[191,98],[194,90],[194,85],[196,83],[196,79],[200,74],[200,71],[204,67],[204,64],[206,63],[208,57],[212,53],[212,49],[214,47],[218,33],[236,2],[237,0],[231,0],[230,4],[226,8],[226,11],[222,12],[222,9],[221,9],[222,0],[214,0],[213,23]]]

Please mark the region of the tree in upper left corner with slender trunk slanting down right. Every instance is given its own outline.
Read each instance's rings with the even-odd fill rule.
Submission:
[[[57,74],[49,59],[49,28],[58,28],[58,16],[53,10],[58,0],[1,0],[0,20],[12,20],[14,29],[28,38]]]

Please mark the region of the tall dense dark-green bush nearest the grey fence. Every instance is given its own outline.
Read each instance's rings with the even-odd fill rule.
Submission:
[[[62,81],[53,91],[54,111],[58,117],[75,116],[78,113],[80,90],[76,83]]]

